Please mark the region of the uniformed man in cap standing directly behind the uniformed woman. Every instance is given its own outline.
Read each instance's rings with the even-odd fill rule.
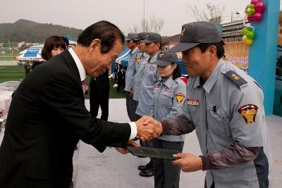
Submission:
[[[139,103],[136,108],[137,115],[150,115],[151,106],[153,101],[154,87],[157,82],[161,80],[157,72],[157,65],[154,61],[157,60],[159,50],[161,49],[162,39],[161,35],[155,32],[149,32],[146,35],[146,39],[141,42],[145,43],[145,52],[149,55],[149,61],[145,66],[144,75],[141,81]],[[142,142],[140,141],[141,146],[152,147],[152,141]],[[138,169],[141,170],[140,175],[142,177],[150,177],[154,175],[154,168],[152,165],[152,158],[150,159],[147,165],[140,165]]]

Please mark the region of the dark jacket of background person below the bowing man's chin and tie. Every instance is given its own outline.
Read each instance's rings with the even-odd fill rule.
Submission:
[[[91,78],[90,80],[90,88],[99,90],[99,91],[106,91],[110,89],[109,85],[109,71],[106,71],[103,75],[100,75],[99,77]]]

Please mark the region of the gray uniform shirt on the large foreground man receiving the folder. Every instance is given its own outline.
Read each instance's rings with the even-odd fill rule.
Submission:
[[[207,187],[214,182],[215,187],[255,188],[259,181],[273,177],[263,101],[262,89],[255,80],[222,59],[206,82],[190,77],[183,111],[195,125],[204,156],[228,148],[235,140],[243,146],[261,147],[260,161],[207,170]],[[263,174],[263,170],[266,177],[257,175]]]

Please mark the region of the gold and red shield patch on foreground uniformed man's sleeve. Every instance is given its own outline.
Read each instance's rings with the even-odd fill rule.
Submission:
[[[258,107],[255,104],[247,104],[237,109],[246,124],[255,123]]]

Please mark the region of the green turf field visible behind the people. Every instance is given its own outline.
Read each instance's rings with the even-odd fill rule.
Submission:
[[[23,66],[0,66],[0,83],[6,81],[20,81],[25,77],[25,68]],[[88,83],[90,77],[87,77]],[[116,92],[116,88],[113,87],[114,83],[110,81],[110,99],[125,98],[125,94],[122,91]],[[85,96],[85,99],[89,99],[89,92]]]

